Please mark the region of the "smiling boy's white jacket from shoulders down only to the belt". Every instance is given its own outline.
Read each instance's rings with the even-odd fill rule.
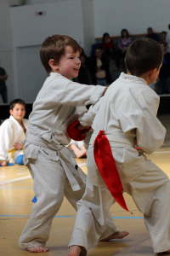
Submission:
[[[104,91],[103,86],[78,84],[59,73],[50,73],[33,104],[29,133],[49,143],[68,145],[71,138],[67,127],[77,119],[76,107],[95,104]]]

